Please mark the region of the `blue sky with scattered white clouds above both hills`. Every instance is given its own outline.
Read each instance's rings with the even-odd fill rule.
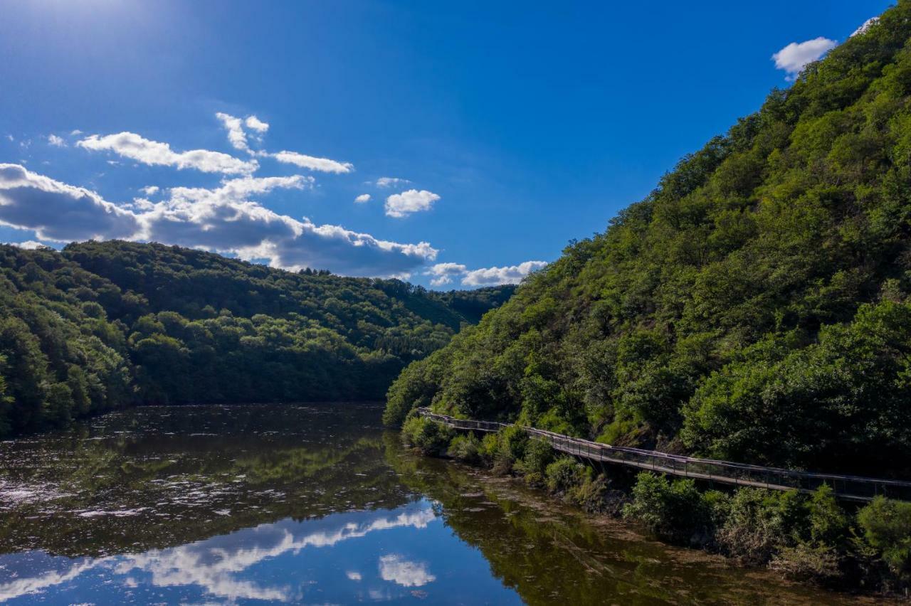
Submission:
[[[0,0],[0,241],[514,283],[890,4]]]

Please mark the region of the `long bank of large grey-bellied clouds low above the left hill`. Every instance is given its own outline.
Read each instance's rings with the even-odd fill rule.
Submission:
[[[398,276],[436,258],[427,242],[402,244],[334,225],[279,215],[250,197],[276,188],[303,189],[312,177],[242,177],[220,187],[172,187],[158,203],[131,208],[96,193],[0,165],[0,223],[32,229],[40,239],[122,238],[266,260],[286,269],[326,268],[350,276]]]

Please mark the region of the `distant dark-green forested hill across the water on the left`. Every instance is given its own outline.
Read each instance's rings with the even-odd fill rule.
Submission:
[[[0,246],[0,438],[129,404],[381,399],[512,290],[435,293],[158,244]]]

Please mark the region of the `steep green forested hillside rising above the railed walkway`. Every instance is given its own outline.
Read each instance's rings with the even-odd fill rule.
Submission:
[[[911,470],[911,2],[390,390],[609,443]],[[670,103],[670,101],[669,101]]]

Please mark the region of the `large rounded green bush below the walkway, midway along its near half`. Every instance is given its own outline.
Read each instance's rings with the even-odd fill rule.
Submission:
[[[640,520],[662,539],[704,544],[711,536],[715,500],[715,495],[703,499],[693,480],[670,481],[643,471],[636,477],[623,517]]]

